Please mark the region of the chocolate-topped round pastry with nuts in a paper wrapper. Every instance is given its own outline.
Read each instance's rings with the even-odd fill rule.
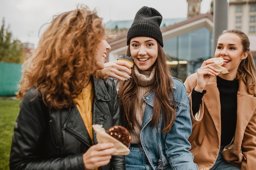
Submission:
[[[128,147],[130,145],[131,137],[125,127],[112,126],[108,130],[106,130],[106,133],[122,142],[125,146]]]

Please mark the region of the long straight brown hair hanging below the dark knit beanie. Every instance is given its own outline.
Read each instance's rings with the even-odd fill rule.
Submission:
[[[126,51],[127,56],[130,54],[130,44]],[[135,73],[132,70],[132,75]],[[135,124],[135,113],[138,88],[138,79],[133,76],[128,82],[118,82],[119,90],[118,95],[120,98],[120,113],[124,115],[124,124],[128,130],[131,130]],[[176,118],[175,102],[173,98],[173,88],[170,70],[166,64],[166,54],[162,49],[162,46],[158,43],[158,56],[155,62],[155,75],[154,84],[151,91],[155,91],[153,117],[150,122],[150,126],[153,127],[158,124],[159,116],[163,116],[164,129],[162,132],[169,132]],[[170,102],[171,99],[171,102]],[[171,104],[172,103],[172,104]]]

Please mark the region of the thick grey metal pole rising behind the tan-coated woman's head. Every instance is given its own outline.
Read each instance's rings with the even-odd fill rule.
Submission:
[[[213,56],[217,39],[228,29],[229,0],[213,0]]]

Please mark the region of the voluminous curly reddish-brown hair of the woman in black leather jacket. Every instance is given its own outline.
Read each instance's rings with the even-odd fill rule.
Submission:
[[[79,4],[73,11],[54,15],[42,34],[38,47],[23,63],[20,98],[32,86],[51,109],[73,106],[74,99],[85,88],[91,75],[106,78],[97,71],[95,55],[106,33],[97,11]],[[43,25],[44,26],[44,25]]]

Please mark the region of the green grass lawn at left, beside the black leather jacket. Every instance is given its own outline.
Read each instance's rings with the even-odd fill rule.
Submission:
[[[20,100],[0,97],[0,170],[9,170],[11,137]]]

